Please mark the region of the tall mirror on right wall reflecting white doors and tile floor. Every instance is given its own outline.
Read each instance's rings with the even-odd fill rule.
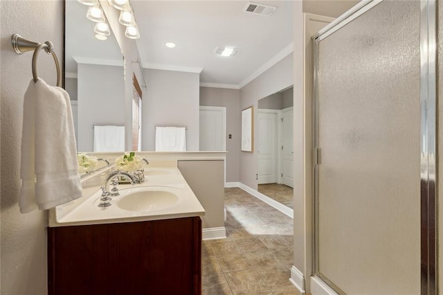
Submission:
[[[293,87],[258,100],[258,191],[293,208]]]

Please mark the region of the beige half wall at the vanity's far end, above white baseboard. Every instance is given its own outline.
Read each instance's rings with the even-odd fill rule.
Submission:
[[[224,161],[180,160],[178,166],[205,209],[203,229],[224,227]]]

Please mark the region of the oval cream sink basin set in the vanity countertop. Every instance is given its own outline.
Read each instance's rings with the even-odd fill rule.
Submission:
[[[143,187],[120,190],[117,206],[127,211],[156,211],[172,206],[179,200],[167,188]]]

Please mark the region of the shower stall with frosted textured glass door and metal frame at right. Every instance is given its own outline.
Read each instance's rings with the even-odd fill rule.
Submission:
[[[313,276],[338,294],[438,294],[442,13],[364,1],[314,37]]]

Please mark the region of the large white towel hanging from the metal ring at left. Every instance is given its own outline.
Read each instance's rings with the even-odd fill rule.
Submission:
[[[21,213],[46,210],[82,196],[69,95],[44,80],[24,96]]]

